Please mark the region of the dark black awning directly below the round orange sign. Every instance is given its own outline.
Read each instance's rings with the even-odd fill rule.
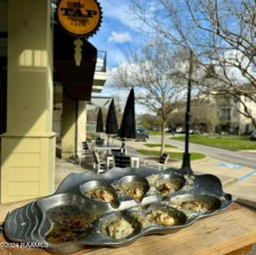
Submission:
[[[62,28],[54,28],[54,79],[63,83],[65,90],[73,100],[90,101],[97,49],[83,39],[82,61],[77,66],[74,60],[75,37]]]

